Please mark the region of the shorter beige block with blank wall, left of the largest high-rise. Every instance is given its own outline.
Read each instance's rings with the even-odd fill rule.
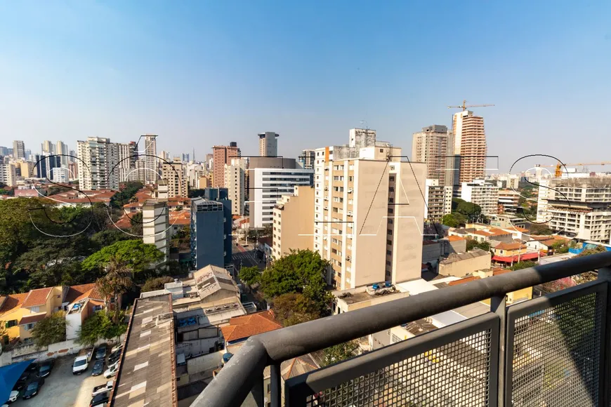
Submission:
[[[272,256],[280,258],[293,250],[313,250],[314,188],[295,187],[274,207]]]

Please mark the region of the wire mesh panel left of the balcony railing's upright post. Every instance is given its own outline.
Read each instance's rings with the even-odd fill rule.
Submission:
[[[488,319],[487,323],[490,324]],[[461,323],[446,331],[447,335],[432,342],[422,335],[420,343],[431,343],[430,347],[410,348],[409,340],[391,345],[394,352],[385,357],[391,359],[388,366],[368,370],[368,363],[359,366],[339,364],[331,368],[328,375],[346,377],[348,380],[327,388],[308,387],[305,397],[293,394],[291,405],[297,406],[489,406],[494,399],[491,393],[491,369],[493,355],[497,354],[497,331],[481,328],[480,331],[461,332]],[[450,328],[450,327],[448,327]],[[438,330],[442,333],[447,328]],[[444,342],[445,341],[445,342]],[[405,345],[405,346],[397,346]],[[436,346],[436,347],[435,347]],[[431,349],[431,347],[433,347]],[[494,352],[493,352],[494,351]],[[376,363],[377,351],[362,357]],[[338,371],[339,369],[339,371]],[[331,376],[325,371],[317,372],[315,382],[327,384]],[[362,375],[358,375],[362,372]],[[496,372],[494,372],[496,375]],[[495,376],[496,377],[496,376]],[[337,381],[336,381],[337,383]],[[289,385],[289,392],[291,385]],[[303,394],[301,392],[296,392]],[[296,397],[295,397],[296,396]]]

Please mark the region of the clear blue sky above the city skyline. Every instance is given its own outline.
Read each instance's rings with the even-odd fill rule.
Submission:
[[[296,156],[364,120],[409,154],[466,99],[496,105],[474,110],[502,171],[607,161],[610,21],[609,1],[3,1],[0,145],[156,133],[203,158],[276,131]]]

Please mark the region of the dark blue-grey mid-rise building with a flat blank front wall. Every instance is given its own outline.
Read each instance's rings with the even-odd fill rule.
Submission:
[[[191,200],[191,257],[195,269],[207,265],[225,267],[231,262],[231,201],[223,199],[226,188],[209,189],[207,196],[220,195],[221,199]]]

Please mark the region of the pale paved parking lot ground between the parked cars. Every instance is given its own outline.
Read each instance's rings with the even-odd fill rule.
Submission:
[[[103,375],[92,376],[93,361],[89,363],[86,372],[72,375],[74,356],[55,359],[55,367],[51,375],[44,380],[39,394],[32,399],[20,398],[11,407],[86,407],[91,401],[91,389],[102,385],[108,380]]]

